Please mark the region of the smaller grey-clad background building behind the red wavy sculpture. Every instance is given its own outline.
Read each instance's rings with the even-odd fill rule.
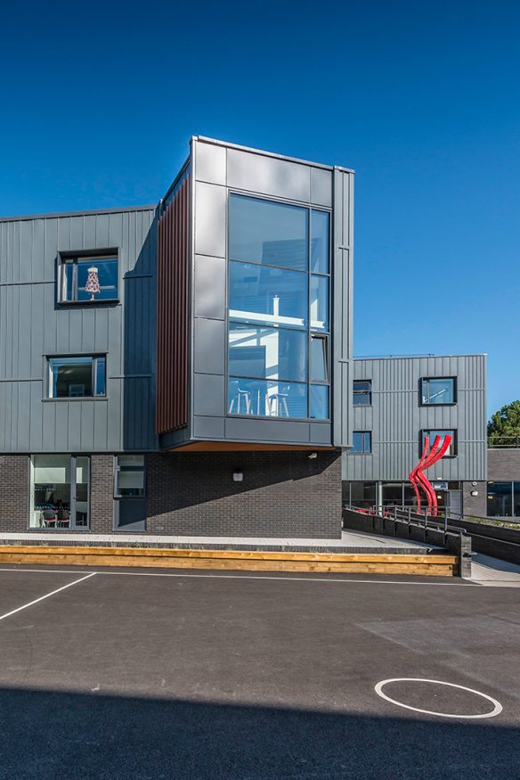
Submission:
[[[451,513],[520,517],[520,441],[487,446],[486,356],[353,360],[353,447],[343,455],[346,504],[416,504],[409,474],[426,436],[450,434],[428,472]]]

